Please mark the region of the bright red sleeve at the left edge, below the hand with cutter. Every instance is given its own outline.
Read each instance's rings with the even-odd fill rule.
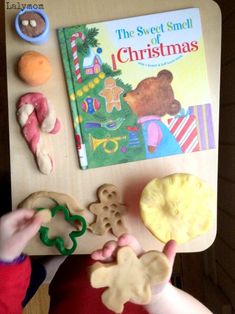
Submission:
[[[29,257],[19,264],[0,264],[0,313],[22,313],[30,274]]]

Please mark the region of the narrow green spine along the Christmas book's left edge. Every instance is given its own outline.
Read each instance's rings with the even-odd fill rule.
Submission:
[[[80,123],[78,121],[79,113],[78,113],[77,104],[76,104],[76,93],[74,90],[71,69],[70,69],[70,64],[69,64],[68,51],[67,51],[67,44],[66,44],[66,39],[65,39],[63,28],[60,28],[57,30],[57,35],[59,39],[61,57],[63,60],[63,65],[64,65],[64,72],[66,76],[67,90],[68,90],[69,101],[70,101],[70,109],[72,113],[73,126],[74,126],[74,132],[75,132],[76,148],[77,148],[78,157],[80,161],[80,167],[81,169],[84,170],[88,168],[88,160],[87,160],[85,144],[82,141]]]

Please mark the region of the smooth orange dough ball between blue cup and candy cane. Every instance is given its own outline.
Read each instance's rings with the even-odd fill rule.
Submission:
[[[19,59],[18,74],[31,86],[46,83],[52,74],[48,58],[36,51],[27,51]]]

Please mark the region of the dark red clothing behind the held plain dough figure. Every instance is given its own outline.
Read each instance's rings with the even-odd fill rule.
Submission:
[[[94,263],[89,255],[67,257],[58,269],[49,287],[50,314],[96,313],[113,314],[101,301],[105,289],[90,285],[88,267]],[[146,310],[133,303],[126,303],[123,314],[146,314]]]

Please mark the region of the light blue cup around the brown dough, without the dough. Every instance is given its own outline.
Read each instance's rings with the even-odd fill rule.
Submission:
[[[19,17],[20,17],[20,15],[22,15],[22,14],[24,14],[26,12],[35,12],[35,13],[41,15],[41,17],[44,19],[45,29],[43,30],[43,32],[40,35],[38,35],[36,37],[30,37],[30,36],[25,35],[21,31]],[[15,18],[15,29],[16,29],[17,34],[23,40],[25,40],[25,41],[27,41],[27,42],[29,42],[31,44],[42,45],[49,38],[49,19],[48,19],[46,13],[43,10],[41,10],[41,9],[23,9],[16,15],[16,18]]]

